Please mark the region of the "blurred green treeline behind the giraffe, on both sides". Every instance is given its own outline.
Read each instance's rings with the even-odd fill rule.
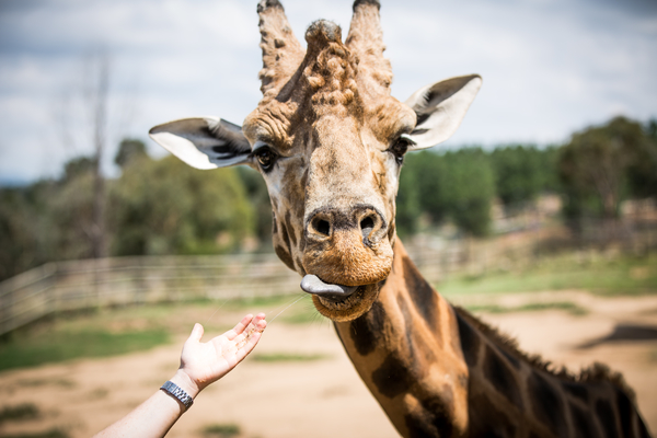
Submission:
[[[438,148],[436,148],[438,149]],[[122,142],[120,177],[104,188],[107,255],[216,254],[270,247],[272,209],[257,172],[197,171],[153,160],[140,140]],[[62,176],[0,188],[0,280],[49,261],[93,256],[94,162],[69,161]],[[657,199],[657,123],[623,117],[589,127],[562,146],[408,153],[397,196],[402,235],[452,222],[464,234],[491,230],[491,207],[531,205],[558,194],[563,216],[616,218],[627,198]]]

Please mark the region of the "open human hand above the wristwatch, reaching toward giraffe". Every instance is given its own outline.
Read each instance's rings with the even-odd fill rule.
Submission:
[[[266,326],[264,313],[255,318],[247,314],[234,328],[201,343],[203,325],[195,324],[183,345],[181,367],[172,381],[195,397],[241,362],[255,347]]]

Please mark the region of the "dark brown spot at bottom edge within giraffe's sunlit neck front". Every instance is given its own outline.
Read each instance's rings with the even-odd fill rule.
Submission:
[[[404,415],[404,422],[412,438],[451,437],[453,425],[449,408],[439,396],[422,401],[422,408]]]

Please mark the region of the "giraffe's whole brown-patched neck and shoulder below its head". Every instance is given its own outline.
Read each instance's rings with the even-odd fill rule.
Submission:
[[[608,376],[576,381],[549,372],[454,310],[399,239],[394,250],[371,310],[335,327],[402,436],[648,436],[630,397]]]

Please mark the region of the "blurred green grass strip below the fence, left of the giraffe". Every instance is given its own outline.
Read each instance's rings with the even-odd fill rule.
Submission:
[[[295,303],[297,299],[300,300]],[[207,333],[217,334],[231,328],[247,312],[265,311],[270,321],[284,310],[277,318],[278,323],[304,324],[321,318],[307,296],[301,293],[226,302],[207,300],[132,306],[61,314],[4,336],[0,341],[0,371],[83,357],[143,351],[169,344],[176,336],[186,336],[195,322],[200,322]],[[220,318],[227,314],[230,318]]]

